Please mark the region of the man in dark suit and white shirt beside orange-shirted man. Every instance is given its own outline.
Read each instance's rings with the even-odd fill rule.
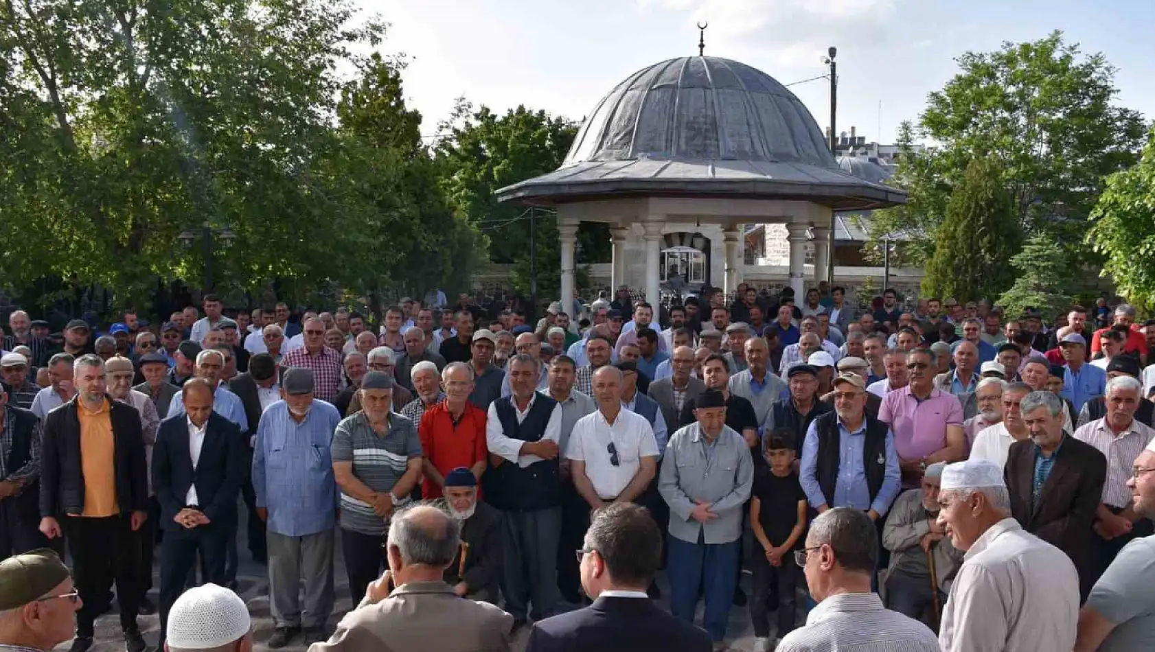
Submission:
[[[203,379],[181,388],[185,414],[165,419],[152,449],[152,487],[161,502],[161,647],[172,604],[196,562],[206,580],[223,585],[225,544],[237,519],[245,477],[240,429],[213,412],[216,390]]]

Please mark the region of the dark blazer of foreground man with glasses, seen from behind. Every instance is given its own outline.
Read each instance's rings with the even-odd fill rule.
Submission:
[[[644,598],[598,598],[534,623],[526,652],[710,652],[709,635]]]

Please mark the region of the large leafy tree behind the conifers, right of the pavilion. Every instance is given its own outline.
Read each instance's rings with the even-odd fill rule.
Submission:
[[[930,93],[918,119],[916,134],[937,147],[902,156],[894,182],[909,203],[875,211],[873,235],[907,233],[917,241],[908,246],[914,262],[930,260],[969,162],[991,156],[1003,163],[1003,185],[1023,230],[1074,246],[1103,178],[1134,162],[1146,130],[1137,112],[1111,104],[1115,67],[1101,53],[1083,55],[1058,31],[956,61],[959,74]]]

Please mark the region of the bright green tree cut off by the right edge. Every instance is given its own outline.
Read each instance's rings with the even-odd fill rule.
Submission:
[[[1104,273],[1134,303],[1155,307],[1155,129],[1134,166],[1106,178],[1087,241]]]

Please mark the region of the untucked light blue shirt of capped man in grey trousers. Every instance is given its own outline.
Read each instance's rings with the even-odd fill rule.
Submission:
[[[320,399],[313,400],[300,424],[284,400],[261,414],[253,448],[253,492],[256,507],[269,510],[270,532],[305,537],[336,525],[330,445],[340,422],[337,409]]]

